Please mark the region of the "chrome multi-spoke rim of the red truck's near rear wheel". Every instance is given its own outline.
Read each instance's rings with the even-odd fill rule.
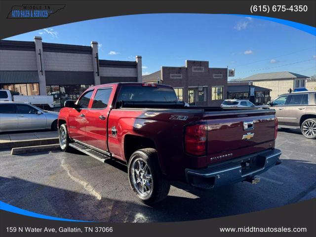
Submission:
[[[142,158],[133,161],[131,176],[133,186],[141,197],[147,197],[151,194],[154,185],[152,172]]]

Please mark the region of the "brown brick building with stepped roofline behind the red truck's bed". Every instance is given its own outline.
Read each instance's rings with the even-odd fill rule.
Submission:
[[[186,60],[184,67],[165,67],[143,76],[144,82],[174,87],[190,106],[219,106],[227,99],[227,68],[209,68],[208,61]]]

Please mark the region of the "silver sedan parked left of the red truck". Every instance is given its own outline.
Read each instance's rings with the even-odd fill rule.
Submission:
[[[58,113],[24,102],[0,102],[0,132],[35,129],[57,130]]]

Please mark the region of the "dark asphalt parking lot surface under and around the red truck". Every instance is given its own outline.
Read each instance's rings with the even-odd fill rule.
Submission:
[[[81,153],[10,155],[0,151],[0,200],[40,214],[105,222],[198,220],[277,207],[316,197],[316,140],[279,131],[283,163],[260,175],[257,185],[238,183],[202,191],[172,183],[154,207],[130,190],[126,166]]]

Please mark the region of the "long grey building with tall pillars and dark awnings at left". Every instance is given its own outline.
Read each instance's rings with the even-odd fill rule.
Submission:
[[[0,88],[23,95],[53,95],[54,105],[76,100],[90,85],[142,81],[142,57],[101,60],[98,43],[90,46],[0,40]]]

